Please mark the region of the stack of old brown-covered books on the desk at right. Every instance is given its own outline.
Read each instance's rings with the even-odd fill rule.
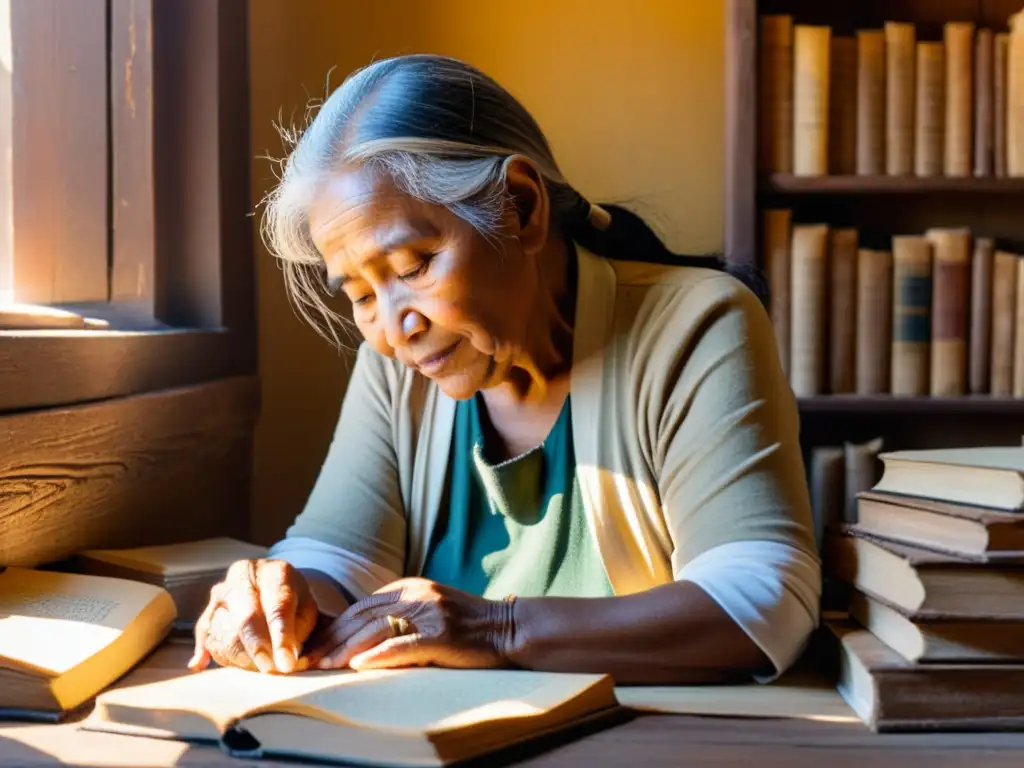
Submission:
[[[1024,727],[1024,447],[881,458],[823,556],[840,693],[880,731]]]

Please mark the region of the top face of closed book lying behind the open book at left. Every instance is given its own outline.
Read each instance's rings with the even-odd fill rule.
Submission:
[[[236,560],[266,557],[267,550],[255,544],[221,537],[199,542],[121,550],[89,550],[82,556],[143,573],[176,577],[226,568]]]

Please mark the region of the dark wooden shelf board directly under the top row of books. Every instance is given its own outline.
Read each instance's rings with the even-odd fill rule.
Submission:
[[[926,195],[934,193],[1024,194],[1024,178],[955,178],[935,176],[794,176],[761,179],[762,191],[800,195]]]

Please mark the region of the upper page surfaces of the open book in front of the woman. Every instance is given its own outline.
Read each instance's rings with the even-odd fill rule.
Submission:
[[[126,710],[151,713],[150,722],[168,724],[171,733],[172,721],[159,713],[199,714],[223,730],[244,717],[274,712],[374,730],[429,732],[540,715],[609,683],[602,675],[433,668],[287,676],[217,669],[148,684],[130,682],[97,698],[90,727],[119,718],[146,725],[124,717]]]

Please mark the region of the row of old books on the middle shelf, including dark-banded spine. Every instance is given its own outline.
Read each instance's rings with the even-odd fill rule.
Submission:
[[[1024,397],[1024,259],[967,228],[863,248],[764,213],[772,325],[794,392]]]

